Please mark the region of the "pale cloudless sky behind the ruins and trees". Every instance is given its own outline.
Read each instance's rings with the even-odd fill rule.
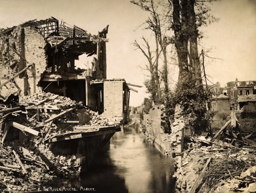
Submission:
[[[204,28],[206,38],[201,42],[210,49],[211,57],[221,60],[205,60],[209,80],[221,83],[238,80],[256,80],[256,1],[222,0],[211,6],[212,14],[219,22]],[[32,19],[53,16],[59,21],[76,25],[91,34],[98,34],[107,25],[107,78],[124,78],[126,82],[143,85],[145,72],[138,66],[146,64],[145,57],[132,45],[145,36],[145,30],[135,29],[148,16],[147,12],[131,4],[129,0],[1,0],[0,28],[12,27]],[[201,51],[201,47],[199,48]],[[79,63],[89,61],[81,57]],[[83,66],[83,65],[82,65]],[[82,67],[81,66],[81,67]],[[172,68],[172,66],[170,66]],[[140,105],[147,94],[145,87],[131,91],[130,105]]]

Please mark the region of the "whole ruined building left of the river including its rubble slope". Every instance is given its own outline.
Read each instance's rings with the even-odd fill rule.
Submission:
[[[130,90],[138,92],[128,85],[141,86],[106,79],[107,33],[53,17],[0,29],[0,192],[80,175],[127,123]],[[82,54],[86,69],[76,67]],[[12,168],[30,176],[16,177],[22,189]]]

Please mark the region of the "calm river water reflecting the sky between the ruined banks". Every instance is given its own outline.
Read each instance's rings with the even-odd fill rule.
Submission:
[[[161,156],[133,127],[124,130],[113,135],[108,150],[95,158],[88,172],[65,184],[78,191],[82,186],[106,193],[175,192],[172,159]]]

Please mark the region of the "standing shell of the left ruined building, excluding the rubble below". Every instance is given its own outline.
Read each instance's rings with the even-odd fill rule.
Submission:
[[[53,17],[2,29],[0,97],[51,92],[127,122],[130,88],[124,79],[106,79],[107,33],[108,26],[92,35]],[[82,54],[92,57],[92,63],[76,69],[75,61]]]

